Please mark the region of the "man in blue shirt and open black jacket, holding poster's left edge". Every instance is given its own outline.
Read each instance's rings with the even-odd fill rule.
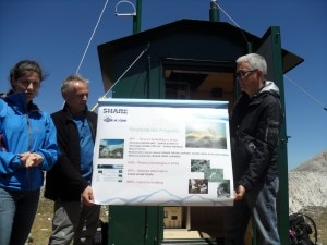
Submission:
[[[49,245],[93,244],[100,213],[90,187],[97,114],[87,110],[88,85],[80,75],[61,85],[65,101],[51,114],[62,156],[47,173],[45,197],[55,200]]]

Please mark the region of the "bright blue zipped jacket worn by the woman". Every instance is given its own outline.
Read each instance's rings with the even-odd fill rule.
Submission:
[[[44,161],[26,169],[17,157],[36,152]],[[50,115],[36,105],[26,105],[23,93],[0,99],[0,187],[35,191],[44,184],[44,171],[52,168],[60,156],[57,132]]]

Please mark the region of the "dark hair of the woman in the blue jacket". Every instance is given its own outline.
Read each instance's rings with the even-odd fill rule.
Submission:
[[[26,73],[35,72],[39,76],[39,82],[43,82],[48,77],[40,68],[40,65],[33,60],[22,60],[16,63],[12,70],[10,71],[10,84],[13,85],[13,82],[19,79],[21,76],[25,75]]]

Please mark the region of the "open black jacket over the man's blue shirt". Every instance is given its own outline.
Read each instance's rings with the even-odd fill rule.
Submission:
[[[93,138],[96,136],[97,114],[86,110]],[[81,200],[81,194],[89,185],[81,175],[80,135],[66,106],[51,114],[57,127],[58,145],[62,156],[47,172],[45,197],[51,200]]]

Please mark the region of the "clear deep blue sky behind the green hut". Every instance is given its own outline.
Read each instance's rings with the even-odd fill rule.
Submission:
[[[52,113],[63,100],[61,82],[89,79],[88,106],[105,95],[97,46],[133,33],[132,5],[118,0],[0,0],[0,91],[23,59],[49,76],[35,102]],[[131,0],[136,5],[136,0]],[[119,4],[118,4],[119,3]],[[217,0],[220,21],[262,37],[279,26],[282,48],[304,59],[284,74],[288,166],[294,169],[327,149],[327,1]],[[210,0],[142,0],[141,32],[181,19],[209,21]],[[117,9],[118,8],[118,9]],[[134,58],[131,58],[131,63]]]

